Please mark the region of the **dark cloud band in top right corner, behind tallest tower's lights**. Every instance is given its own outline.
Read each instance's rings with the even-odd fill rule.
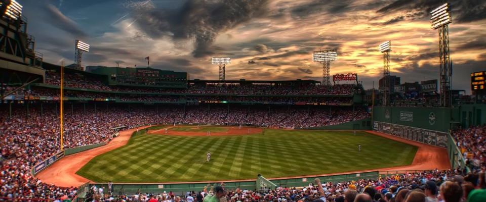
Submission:
[[[473,22],[486,19],[486,2],[481,0],[453,0],[448,1],[452,8],[452,17],[457,22]],[[424,16],[429,16],[430,12],[438,6],[444,4],[442,0],[398,0],[385,7],[377,13],[390,13],[392,11],[407,11],[410,9],[423,10]]]

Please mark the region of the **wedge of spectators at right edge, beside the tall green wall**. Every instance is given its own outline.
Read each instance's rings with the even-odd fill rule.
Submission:
[[[472,170],[486,170],[486,125],[453,132],[457,146]]]

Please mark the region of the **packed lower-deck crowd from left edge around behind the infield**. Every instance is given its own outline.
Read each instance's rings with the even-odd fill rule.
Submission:
[[[270,127],[310,127],[313,124],[331,125],[350,119],[362,118],[363,113],[338,110],[329,113],[323,110],[306,109],[246,109],[235,107],[126,107],[99,105],[71,106],[64,116],[64,148],[108,141],[115,127],[149,125],[157,123],[208,123],[208,124],[253,124]],[[30,170],[37,163],[59,151],[59,113],[54,105],[46,104],[29,108],[15,107],[12,117],[6,107],[0,114],[0,146],[2,186],[0,197],[10,198],[55,198],[73,196],[75,188],[60,188],[42,183],[31,176]],[[340,114],[340,116],[336,116]],[[347,117],[348,115],[349,117]],[[306,117],[290,119],[290,117]],[[333,119],[332,117],[336,117]],[[293,121],[291,121],[293,120]],[[308,122],[306,124],[303,124]]]

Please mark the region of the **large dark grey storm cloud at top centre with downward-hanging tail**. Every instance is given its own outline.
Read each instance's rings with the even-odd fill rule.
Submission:
[[[132,4],[137,24],[150,37],[172,36],[193,39],[194,57],[213,53],[212,44],[220,31],[262,15],[266,0],[187,1],[178,10],[155,9],[150,5]]]

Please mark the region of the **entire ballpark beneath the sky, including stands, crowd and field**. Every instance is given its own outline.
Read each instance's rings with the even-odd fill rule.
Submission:
[[[322,85],[64,67],[1,2],[0,201],[484,198],[486,106],[450,90],[439,107],[437,79],[365,90],[357,74]]]

